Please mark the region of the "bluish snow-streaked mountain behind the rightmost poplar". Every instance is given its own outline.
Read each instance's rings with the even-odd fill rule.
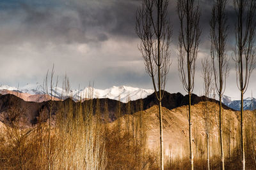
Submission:
[[[224,98],[224,97],[223,97]],[[229,108],[232,108],[234,110],[240,110],[241,109],[241,101],[240,100],[233,100],[229,101],[223,99],[223,103],[228,106]],[[255,110],[256,109],[256,99],[252,97],[248,97],[243,100],[243,108],[244,110]]]

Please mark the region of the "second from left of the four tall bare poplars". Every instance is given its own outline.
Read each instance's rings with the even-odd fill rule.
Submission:
[[[189,96],[189,148],[191,169],[194,169],[191,121],[191,93],[194,89],[195,60],[198,53],[201,29],[199,25],[200,10],[194,0],[179,0],[177,9],[180,20],[179,34],[179,75],[184,90]]]

